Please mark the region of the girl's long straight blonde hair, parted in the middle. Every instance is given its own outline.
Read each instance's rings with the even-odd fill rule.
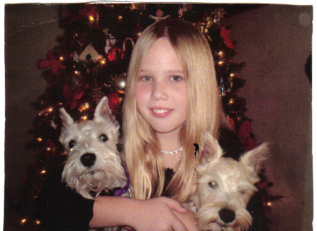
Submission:
[[[226,119],[206,37],[184,20],[166,19],[147,27],[132,52],[123,105],[124,161],[135,198],[161,196],[164,187],[165,170],[159,141],[154,130],[137,112],[135,101],[139,68],[151,45],[161,37],[167,37],[178,54],[187,84],[187,120],[180,131],[185,151],[167,187],[170,197],[182,203],[194,192],[194,143],[202,147],[206,131],[218,137],[218,129]]]

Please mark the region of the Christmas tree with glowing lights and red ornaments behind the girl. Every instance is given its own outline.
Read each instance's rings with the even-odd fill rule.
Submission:
[[[125,77],[135,42],[144,28],[163,18],[181,18],[195,25],[206,36],[213,52],[219,94],[233,130],[239,135],[244,150],[254,149],[259,142],[251,132],[251,119],[246,101],[238,95],[245,80],[239,76],[244,63],[234,63],[235,42],[230,27],[223,27],[225,5],[220,4],[65,4],[60,6],[63,35],[59,46],[39,57],[37,66],[47,82],[46,91],[33,103],[38,114],[30,130],[33,139],[27,149],[36,161],[27,166],[23,196],[19,205],[21,229],[41,230],[41,221],[32,217],[32,206],[43,182],[66,160],[58,142],[61,131],[59,108],[74,120],[91,119],[103,96],[121,122]],[[268,195],[273,185],[261,175],[259,189],[263,205],[278,199]]]

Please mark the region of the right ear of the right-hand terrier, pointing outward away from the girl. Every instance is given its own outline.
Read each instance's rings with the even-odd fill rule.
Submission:
[[[269,144],[266,142],[241,156],[240,161],[249,166],[252,170],[258,172],[261,170],[261,164],[263,161],[268,158],[268,154]]]

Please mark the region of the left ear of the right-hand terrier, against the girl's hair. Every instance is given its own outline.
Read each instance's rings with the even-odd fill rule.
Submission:
[[[199,163],[209,162],[221,156],[223,156],[223,149],[221,149],[216,138],[207,133],[205,135],[204,149],[199,156]]]

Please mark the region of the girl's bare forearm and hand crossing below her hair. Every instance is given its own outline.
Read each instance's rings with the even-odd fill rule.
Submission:
[[[137,200],[121,196],[98,196],[94,202],[89,226],[129,226],[134,230],[185,230],[184,223],[175,215],[187,213],[177,201],[167,197]]]

